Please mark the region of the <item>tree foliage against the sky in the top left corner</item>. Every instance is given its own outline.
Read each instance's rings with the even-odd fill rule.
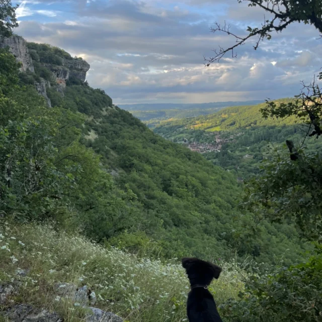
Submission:
[[[12,29],[18,27],[16,7],[13,7],[11,0],[0,0],[0,36],[10,37]]]

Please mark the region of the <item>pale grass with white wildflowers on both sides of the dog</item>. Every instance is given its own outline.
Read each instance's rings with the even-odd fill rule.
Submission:
[[[88,285],[97,295],[97,307],[127,321],[187,320],[189,285],[178,260],[163,263],[138,258],[79,235],[57,232],[51,225],[14,225],[0,220],[0,284],[22,282],[8,305],[30,303],[57,311],[66,322],[84,321],[84,309],[55,291],[56,283],[67,282]],[[210,287],[218,305],[237,297],[244,286],[243,271],[235,262],[220,265],[222,275]],[[30,272],[17,277],[21,269]]]

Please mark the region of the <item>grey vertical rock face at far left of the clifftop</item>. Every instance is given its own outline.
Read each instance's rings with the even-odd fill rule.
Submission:
[[[17,61],[22,63],[22,71],[35,71],[24,38],[17,35],[13,35],[9,38],[0,37],[0,48],[6,47],[9,47],[10,52],[16,57]]]

